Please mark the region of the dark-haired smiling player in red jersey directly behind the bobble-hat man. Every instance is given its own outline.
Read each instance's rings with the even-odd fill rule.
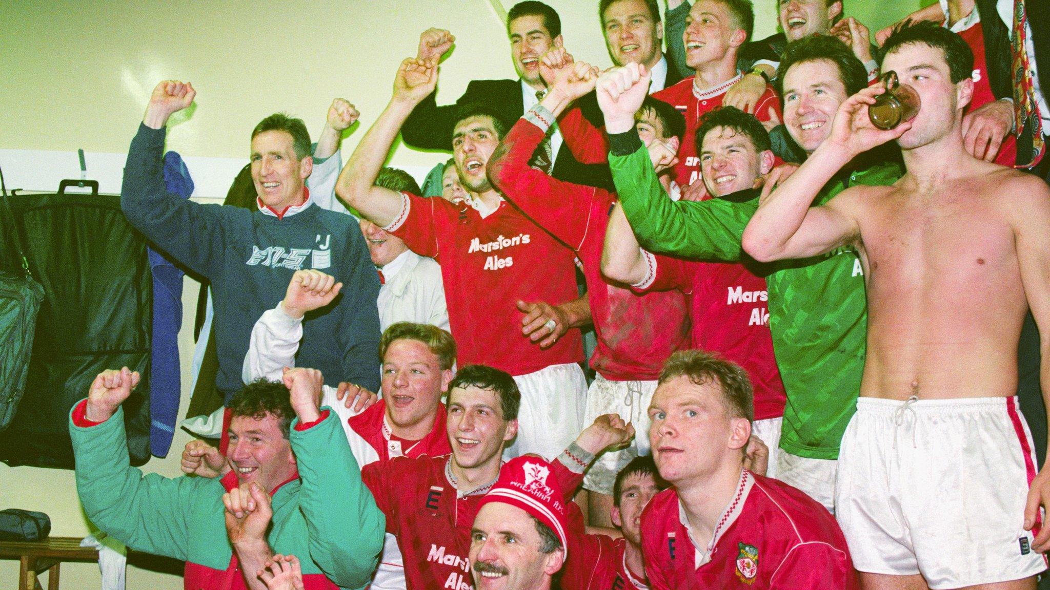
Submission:
[[[386,531],[397,536],[404,555],[410,590],[472,584],[467,561],[470,526],[485,492],[500,477],[503,447],[518,429],[520,401],[510,375],[484,365],[464,366],[448,391],[452,455],[398,458],[364,467],[364,482],[386,514]],[[633,434],[614,416],[604,416],[581,433],[550,463],[550,475],[564,492],[560,501],[570,503],[595,454],[627,442]]]

